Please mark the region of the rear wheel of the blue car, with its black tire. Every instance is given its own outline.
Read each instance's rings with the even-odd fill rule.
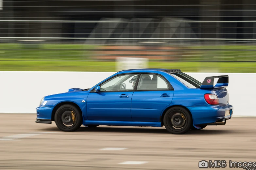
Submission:
[[[168,132],[181,135],[189,131],[192,125],[192,117],[185,108],[175,106],[166,111],[163,124]]]

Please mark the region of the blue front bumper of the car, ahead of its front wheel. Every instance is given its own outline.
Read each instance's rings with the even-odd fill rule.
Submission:
[[[36,123],[52,123],[52,110],[54,107],[39,106],[36,108]]]

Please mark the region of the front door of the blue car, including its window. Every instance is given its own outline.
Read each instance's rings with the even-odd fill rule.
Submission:
[[[131,121],[131,98],[138,74],[123,74],[100,85],[87,98],[88,120]]]

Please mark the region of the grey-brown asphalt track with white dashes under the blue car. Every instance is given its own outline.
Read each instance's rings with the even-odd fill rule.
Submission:
[[[256,118],[233,117],[226,125],[185,135],[164,127],[82,126],[62,132],[55,122],[35,119],[36,114],[0,114],[0,169],[191,170],[201,160],[256,158]]]

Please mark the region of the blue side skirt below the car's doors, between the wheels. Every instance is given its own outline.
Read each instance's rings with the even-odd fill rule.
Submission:
[[[106,120],[84,120],[83,125],[108,125],[108,126],[153,126],[162,127],[161,122],[147,122],[147,121],[106,121]]]

